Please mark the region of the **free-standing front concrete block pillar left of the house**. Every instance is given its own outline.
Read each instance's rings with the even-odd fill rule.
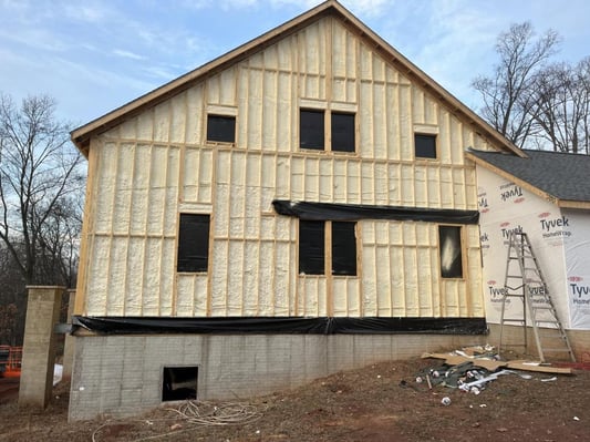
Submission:
[[[29,286],[19,407],[44,409],[53,388],[55,333],[64,287]]]

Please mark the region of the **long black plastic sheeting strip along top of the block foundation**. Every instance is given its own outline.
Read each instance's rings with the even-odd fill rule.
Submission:
[[[303,317],[83,317],[73,325],[104,335],[485,335],[485,318],[303,318]]]

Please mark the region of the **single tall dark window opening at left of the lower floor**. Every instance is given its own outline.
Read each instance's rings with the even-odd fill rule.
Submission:
[[[177,270],[207,271],[208,263],[209,215],[180,214]]]

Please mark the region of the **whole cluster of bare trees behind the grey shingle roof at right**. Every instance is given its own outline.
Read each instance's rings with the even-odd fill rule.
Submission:
[[[472,83],[482,116],[519,147],[590,154],[590,56],[553,61],[561,39],[530,22],[498,35],[498,63]]]

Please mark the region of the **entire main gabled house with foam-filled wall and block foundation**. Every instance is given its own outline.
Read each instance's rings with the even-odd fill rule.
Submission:
[[[337,1],[72,140],[71,419],[486,340],[465,151],[524,154]]]

